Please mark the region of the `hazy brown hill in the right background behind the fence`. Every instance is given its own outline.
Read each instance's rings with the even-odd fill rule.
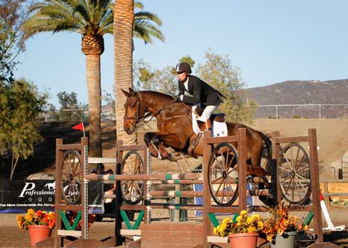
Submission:
[[[269,86],[247,89],[249,97],[259,105],[348,104],[348,79],[331,81],[284,81]],[[300,115],[305,118],[348,117],[348,106],[279,106],[280,118]],[[260,107],[256,118],[276,116],[276,107]]]

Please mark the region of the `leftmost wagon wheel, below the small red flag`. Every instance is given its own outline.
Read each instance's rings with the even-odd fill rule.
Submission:
[[[82,184],[82,164],[80,153],[67,150],[62,154],[60,163],[60,190],[65,203],[74,205],[80,201]]]

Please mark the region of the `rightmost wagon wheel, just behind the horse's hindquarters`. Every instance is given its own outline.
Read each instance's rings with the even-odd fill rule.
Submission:
[[[290,143],[281,152],[278,181],[283,198],[289,203],[308,204],[310,197],[310,159],[298,143]]]

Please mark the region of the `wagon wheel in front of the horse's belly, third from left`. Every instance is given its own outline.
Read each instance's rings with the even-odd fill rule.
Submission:
[[[232,205],[238,196],[238,155],[232,145],[221,143],[214,147],[209,159],[210,193],[217,205]]]

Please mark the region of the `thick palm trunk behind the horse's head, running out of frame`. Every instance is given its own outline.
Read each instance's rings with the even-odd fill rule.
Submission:
[[[117,0],[114,5],[114,88],[117,140],[131,145],[136,142],[136,133],[124,132],[124,103],[126,96],[121,89],[133,87],[133,24],[134,0]]]

